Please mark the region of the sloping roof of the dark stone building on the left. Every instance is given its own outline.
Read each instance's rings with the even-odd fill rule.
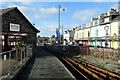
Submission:
[[[6,8],[6,9],[1,9],[0,10],[0,16],[2,16],[2,15],[5,15],[6,13],[8,13],[8,12],[10,12],[10,11],[12,11],[12,10],[14,10],[14,9],[17,9],[20,13],[21,13],[21,11],[17,8],[17,7],[11,7],[11,8]],[[21,13],[22,14],[22,13]],[[23,14],[22,14],[23,15]],[[23,15],[23,17],[25,18],[25,20],[31,25],[31,27],[38,33],[38,32],[40,32],[37,28],[35,28],[30,22],[29,22],[29,20]]]

